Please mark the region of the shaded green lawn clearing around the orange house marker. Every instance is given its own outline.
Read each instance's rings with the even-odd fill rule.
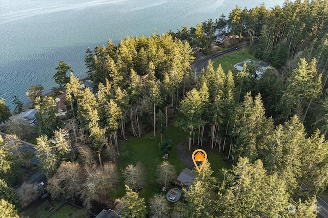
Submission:
[[[177,115],[179,116],[179,114]],[[149,200],[155,193],[161,192],[161,186],[156,182],[157,174],[156,169],[160,162],[163,161],[163,154],[159,150],[160,133],[150,132],[140,138],[129,138],[127,141],[119,142],[120,156],[118,160],[118,168],[124,169],[128,164],[135,165],[137,162],[141,162],[147,169],[147,183],[148,186],[141,189],[139,196]],[[169,152],[168,161],[175,167],[176,172],[180,173],[186,168],[178,154],[177,145],[183,141],[188,140],[188,134],[184,133],[180,128],[177,128],[171,123],[163,134],[163,140],[172,140],[172,150]],[[192,152],[192,151],[191,151]],[[222,157],[218,154],[216,149],[213,149],[208,154],[208,159],[211,162],[212,170],[215,172],[213,176],[216,176],[216,172],[219,168],[228,167]],[[121,198],[125,194],[124,178],[120,179],[118,189],[111,195],[110,200],[114,201],[116,198]]]

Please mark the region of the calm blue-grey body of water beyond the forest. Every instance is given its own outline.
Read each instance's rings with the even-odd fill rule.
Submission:
[[[250,9],[262,2],[271,8],[284,1],[1,0],[0,98],[12,108],[13,95],[28,101],[31,84],[50,91],[59,60],[76,76],[86,76],[87,48],[107,45],[108,39],[176,32],[222,13],[228,17],[236,5]]]

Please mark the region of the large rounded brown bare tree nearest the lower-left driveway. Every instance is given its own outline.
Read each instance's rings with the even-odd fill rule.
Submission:
[[[84,183],[83,168],[76,162],[61,162],[55,175],[49,180],[48,189],[53,197],[77,198]]]

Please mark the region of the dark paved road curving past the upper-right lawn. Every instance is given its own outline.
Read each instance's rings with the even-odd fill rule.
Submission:
[[[253,45],[257,45],[258,42],[259,42],[258,40],[253,41]],[[246,43],[245,45],[242,45],[242,47],[247,47],[249,45],[250,45],[250,42]],[[214,59],[216,59],[220,56],[223,56],[225,54],[234,52],[234,51],[236,51],[240,48],[241,48],[240,46],[236,46],[236,47],[233,47],[231,49],[227,49],[226,51],[206,56],[206,57],[194,62],[193,64],[191,64],[191,67],[195,69],[195,77],[196,78],[198,77],[198,75],[199,75],[199,73],[201,72],[202,69],[206,70],[206,67],[207,67],[207,64],[209,63],[209,60],[213,61]]]

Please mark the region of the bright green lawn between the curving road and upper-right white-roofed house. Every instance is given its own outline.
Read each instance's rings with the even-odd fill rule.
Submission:
[[[236,63],[248,58],[253,60],[259,60],[254,57],[254,54],[250,54],[248,52],[248,48],[245,48],[244,51],[238,50],[213,60],[213,67],[214,70],[216,70],[219,64],[221,64],[223,71],[228,72],[228,70],[232,70],[234,68]]]

